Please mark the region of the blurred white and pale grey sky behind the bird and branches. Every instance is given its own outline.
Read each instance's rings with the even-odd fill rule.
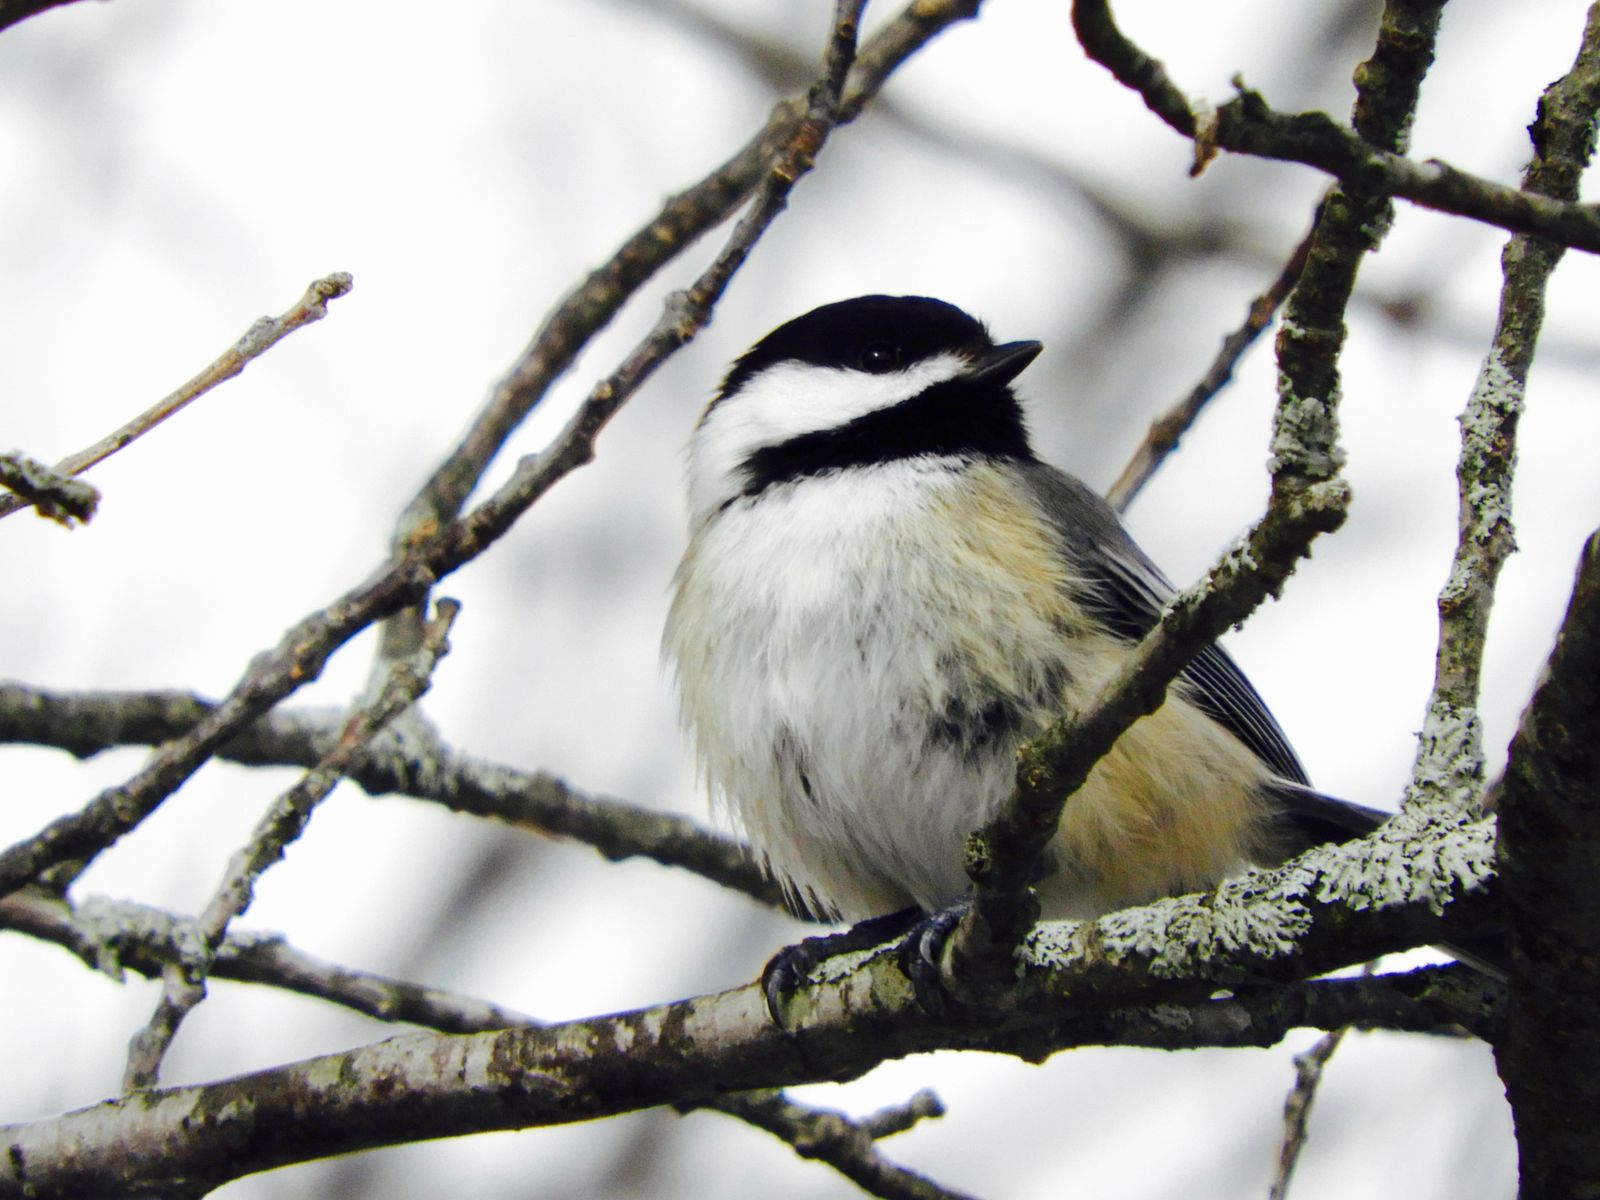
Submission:
[[[699,0],[811,58],[822,0]],[[874,5],[885,16],[893,5]],[[381,11],[381,16],[379,16]],[[1125,27],[1221,101],[1242,72],[1280,107],[1349,110],[1371,40],[1328,32],[1334,0],[1125,0]],[[1515,182],[1538,91],[1571,62],[1578,0],[1456,0],[1414,131]],[[1061,0],[990,0],[891,83],[915,122],[1019,149],[1162,229],[1216,227],[1237,253],[1171,261],[1117,301],[1118,243],[1042,171],[974,158],[867,117],[842,131],[672,360],[486,558],[446,581],[464,613],[426,701],[454,746],[602,794],[704,811],[656,666],[682,549],[680,448],[725,365],[776,323],[862,291],[926,293],[1002,339],[1042,338],[1021,379],[1042,451],[1107,485],[1149,419],[1299,238],[1322,181],[1187,147],[1086,62]],[[70,5],[0,35],[0,448],[58,458],[120,424],[307,282],[355,291],[242,379],[91,478],[101,515],[66,533],[0,525],[0,677],[50,688],[216,696],[278,634],[363,578],[392,520],[536,322],[763,120],[771,93],[725,46],[643,0]],[[717,235],[720,240],[720,234]],[[1434,597],[1454,539],[1454,414],[1493,320],[1502,235],[1402,208],[1363,269],[1344,358],[1355,507],[1346,531],[1230,645],[1325,790],[1392,806],[1432,678]],[[710,253],[638,298],[522,430],[534,448]],[[1522,552],[1506,568],[1485,696],[1491,758],[1549,651],[1581,539],[1600,514],[1594,259],[1570,254],[1522,432]],[[1402,326],[1379,302],[1416,299]],[[1107,307],[1114,307],[1107,312]],[[1179,582],[1266,494],[1274,368],[1258,347],[1130,523]],[[506,467],[499,469],[501,477]],[[296,702],[338,704],[371,640]],[[6,843],[131,773],[6,749]],[[195,910],[293,773],[206,768],[106,854],[82,894]],[[248,926],[304,950],[538,1014],[582,1016],[750,979],[798,926],[650,864],[610,866],[408,800],[341,789],[264,882]],[[0,1122],[110,1094],[152,984],[0,939]],[[262,989],[218,984],[166,1080],[216,1078],[386,1035]],[[1294,1046],[1309,1038],[1296,1038]],[[867,1110],[933,1085],[942,1122],[885,1144],[990,1197],[1261,1195],[1293,1069],[1274,1051],[1080,1051],[1043,1067],[938,1056],[846,1088]],[[1314,1114],[1298,1200],[1502,1197],[1509,1118],[1488,1051],[1352,1037]],[[386,1197],[835,1197],[853,1190],[715,1115],[643,1114],[379,1152],[232,1184],[227,1200]]]

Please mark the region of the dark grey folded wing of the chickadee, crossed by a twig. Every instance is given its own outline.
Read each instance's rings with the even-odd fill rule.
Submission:
[[[1117,512],[1080,480],[1048,464],[1026,464],[1022,477],[1062,552],[1085,578],[1080,602],[1117,637],[1138,642],[1149,634],[1174,589],[1122,528]],[[1309,782],[1283,730],[1226,650],[1206,646],[1184,667],[1182,678],[1189,699],[1267,770],[1291,784]]]

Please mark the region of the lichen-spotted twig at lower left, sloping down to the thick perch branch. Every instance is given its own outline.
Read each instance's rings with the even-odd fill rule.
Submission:
[[[160,978],[170,963],[192,962],[202,939],[192,917],[106,898],[69,904],[37,888],[0,899],[0,928],[54,942],[117,979],[123,970]],[[216,949],[211,978],[277,987],[378,1021],[405,1021],[445,1034],[533,1022],[475,997],[314,958],[267,933],[230,931]]]

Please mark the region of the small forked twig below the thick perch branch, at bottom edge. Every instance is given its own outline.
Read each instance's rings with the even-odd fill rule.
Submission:
[[[909,1104],[861,1122],[832,1109],[795,1104],[776,1088],[741,1091],[704,1107],[766,1130],[789,1142],[802,1158],[827,1163],[867,1195],[885,1200],[971,1200],[966,1192],[941,1187],[926,1176],[896,1166],[874,1144],[877,1138],[899,1133],[926,1117],[942,1117],[944,1106],[931,1091],[918,1091]]]

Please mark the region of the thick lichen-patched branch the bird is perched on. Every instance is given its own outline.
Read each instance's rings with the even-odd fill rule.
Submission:
[[[1498,1008],[1494,986],[1446,968],[1394,984],[1291,981],[1442,936],[1446,909],[1485,918],[1490,830],[1454,830],[1394,853],[1379,840],[1325,848],[1210,896],[1160,901],[1093,925],[1043,925],[1021,987],[973,1024],[922,1011],[893,954],[834,963],[779,1029],[757,984],[674,1005],[544,1029],[406,1035],[234,1080],[141,1093],[0,1130],[0,1197],[158,1195],[290,1162],[482,1130],[699,1104],[726,1091],[850,1078],[886,1058],[934,1048],[1048,1056],[1109,1030],[1150,1045],[1272,1045],[1304,1024],[1314,995],[1374,995],[1422,1013],[1466,1000],[1456,1021]],[[1408,867],[1414,867],[1408,872]],[[1397,888],[1397,882],[1403,886]],[[1366,902],[1357,910],[1357,902]],[[1213,1000],[1219,986],[1258,987]],[[1440,981],[1443,992],[1435,981]],[[1352,990],[1354,989],[1354,990]],[[1475,989],[1475,990],[1474,990]],[[1405,1000],[1405,995],[1413,1000]],[[1416,1000],[1414,997],[1430,997]],[[1147,1010],[1130,1021],[1130,1010]],[[1171,1008],[1171,1006],[1178,1008]],[[1421,1005],[1421,1008],[1418,1008]],[[1363,1019],[1334,1000],[1325,1016]],[[1477,1011],[1474,1011],[1477,1010]],[[1370,1013],[1368,1013],[1370,1014]],[[1443,1027],[1434,1008],[1432,1026]],[[1154,1038],[1160,1038],[1155,1042]],[[1133,1038],[1128,1038],[1133,1040]]]

